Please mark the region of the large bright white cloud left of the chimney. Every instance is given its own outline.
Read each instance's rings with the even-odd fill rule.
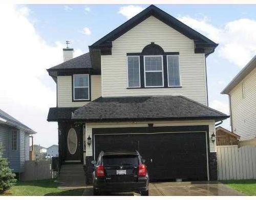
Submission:
[[[28,14],[25,7],[0,7],[0,109],[37,131],[35,143],[47,146],[57,143],[57,124],[46,121],[56,106],[56,84],[46,69],[62,62],[64,45],[48,45]]]

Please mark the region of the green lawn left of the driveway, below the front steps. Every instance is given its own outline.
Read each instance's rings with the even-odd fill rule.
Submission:
[[[17,182],[4,195],[15,196],[44,196],[44,195],[82,195],[83,188],[79,189],[59,189],[54,180],[24,181]]]

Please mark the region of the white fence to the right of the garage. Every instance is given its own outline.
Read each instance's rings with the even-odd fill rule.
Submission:
[[[256,179],[256,145],[217,146],[218,180]]]

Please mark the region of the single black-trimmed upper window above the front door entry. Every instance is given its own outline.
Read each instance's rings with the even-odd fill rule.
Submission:
[[[73,97],[74,100],[89,100],[90,79],[89,74],[74,74],[73,75]]]

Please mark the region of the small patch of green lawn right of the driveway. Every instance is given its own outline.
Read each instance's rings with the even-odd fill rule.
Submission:
[[[223,184],[247,195],[256,195],[256,180],[222,181]]]

